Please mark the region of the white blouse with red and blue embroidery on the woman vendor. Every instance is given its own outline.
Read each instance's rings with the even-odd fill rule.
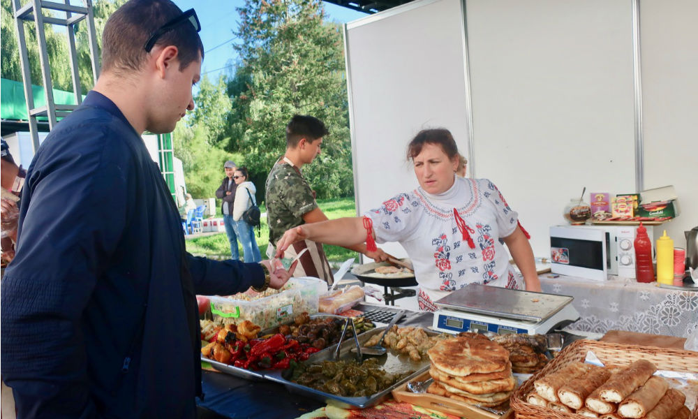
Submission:
[[[514,233],[519,214],[489,179],[456,176],[438,195],[418,187],[364,216],[373,221],[376,242],[405,248],[432,301],[473,283],[523,288],[502,240]]]

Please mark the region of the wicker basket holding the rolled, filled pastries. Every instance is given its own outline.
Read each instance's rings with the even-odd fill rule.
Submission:
[[[526,395],[533,390],[533,381],[551,372],[565,367],[570,362],[584,362],[587,351],[592,351],[607,367],[624,367],[632,362],[645,359],[653,362],[658,369],[676,372],[698,373],[698,353],[682,351],[671,348],[658,348],[655,346],[636,346],[611,344],[607,342],[579,340],[567,348],[546,365],[542,370],[528,378],[521,387],[514,392],[511,406],[517,419],[582,419],[585,416],[577,413],[565,413],[536,406],[526,402]],[[690,419],[698,419],[698,400],[691,412]]]

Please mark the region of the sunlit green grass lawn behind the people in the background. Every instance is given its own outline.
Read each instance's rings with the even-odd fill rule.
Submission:
[[[320,205],[320,209],[329,219],[337,219],[343,216],[356,216],[354,198],[318,200],[318,205]],[[262,213],[266,212],[265,207],[260,207],[260,210],[262,210]],[[267,258],[265,254],[267,252],[267,245],[269,244],[269,226],[267,226],[266,216],[262,216],[260,237],[255,237],[255,239],[260,248],[260,253],[262,253],[262,258]],[[355,251],[344,249],[339,246],[329,246],[327,244],[323,247],[325,248],[325,253],[327,253],[327,258],[330,262],[343,262],[348,258],[357,258],[357,261],[359,260],[359,253]],[[242,246],[238,245],[238,248],[240,256],[242,257]],[[197,256],[230,257],[230,244],[228,244],[228,236],[225,235],[225,233],[186,240],[186,250]]]

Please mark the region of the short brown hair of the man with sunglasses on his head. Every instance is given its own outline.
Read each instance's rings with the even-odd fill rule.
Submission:
[[[147,54],[145,43],[163,24],[181,15],[170,0],[130,0],[112,13],[102,33],[102,68],[105,71],[138,71]],[[191,24],[179,24],[165,32],[155,45],[177,47],[179,71],[204,58],[204,47]]]

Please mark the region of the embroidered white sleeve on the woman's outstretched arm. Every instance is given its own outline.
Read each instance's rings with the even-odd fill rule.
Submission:
[[[419,225],[419,203],[414,196],[401,193],[385,201],[380,207],[364,213],[373,220],[376,242],[407,240]]]

